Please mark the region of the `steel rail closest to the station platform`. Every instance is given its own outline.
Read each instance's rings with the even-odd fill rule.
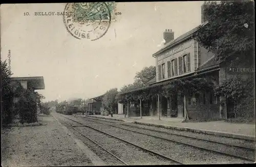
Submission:
[[[81,118],[88,118],[88,119],[92,119],[92,120],[98,120],[98,121],[113,123],[113,122],[110,122],[110,121],[99,120],[99,119],[97,119],[97,118],[82,117],[82,116],[78,116],[78,117],[81,117]],[[135,127],[135,128],[138,128],[138,129],[151,130],[151,131],[161,132],[161,133],[166,133],[166,134],[173,134],[173,135],[182,136],[182,137],[189,137],[189,138],[194,138],[194,139],[204,140],[204,141],[209,141],[209,142],[215,142],[215,143],[218,143],[218,144],[223,144],[223,145],[228,145],[228,146],[234,146],[234,147],[239,147],[239,148],[243,148],[243,149],[256,150],[255,148],[250,148],[250,147],[245,147],[245,146],[238,146],[238,145],[231,145],[231,144],[227,144],[227,143],[225,143],[225,142],[212,141],[212,140],[208,140],[208,139],[202,139],[202,138],[197,138],[197,137],[192,137],[192,136],[186,136],[186,135],[182,135],[182,134],[175,134],[175,133],[171,133],[171,132],[163,132],[163,131],[154,130],[154,129],[148,129],[148,128],[142,128],[142,127],[127,125],[127,124],[124,124],[124,123],[120,123],[120,125]],[[211,135],[211,134],[207,134],[207,135]],[[225,136],[221,136],[221,137],[225,137]],[[229,137],[229,138],[233,138],[233,137]],[[238,139],[238,138],[234,138],[234,139]],[[240,139],[240,140],[246,140],[246,139]],[[251,140],[247,140],[247,141],[251,141]],[[253,142],[253,141],[252,141],[252,142]]]

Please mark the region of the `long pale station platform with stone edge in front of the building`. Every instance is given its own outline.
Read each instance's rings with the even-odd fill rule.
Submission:
[[[171,118],[166,116],[160,117],[160,120],[157,116],[142,116],[142,118],[140,118],[139,116],[131,116],[128,118],[127,115],[126,117],[124,117],[124,115],[119,114],[113,114],[113,117],[111,117],[111,115],[87,116],[105,118],[109,120],[116,120],[127,123],[143,124],[169,129],[185,130],[204,134],[255,140],[255,124],[227,123],[225,121],[186,123],[183,122],[183,118]]]

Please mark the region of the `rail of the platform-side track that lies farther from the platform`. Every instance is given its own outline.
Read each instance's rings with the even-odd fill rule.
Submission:
[[[78,116],[80,117],[80,116]],[[81,117],[83,118],[83,117]],[[86,118],[84,118],[86,119]],[[91,121],[91,120],[90,120]],[[101,121],[101,120],[98,120],[98,121]],[[92,121],[92,122],[95,122],[95,121]],[[99,123],[99,122],[96,122],[96,123]],[[101,123],[102,125],[105,125],[103,123]],[[123,124],[120,124],[120,125],[123,125]],[[115,127],[115,128],[120,128],[120,129],[123,129],[123,130],[127,130],[127,131],[131,131],[131,132],[135,132],[135,133],[139,133],[139,134],[144,134],[144,135],[147,135],[147,136],[152,136],[152,137],[156,137],[156,138],[160,138],[160,139],[164,139],[164,140],[167,140],[167,141],[173,141],[173,142],[177,142],[179,144],[182,144],[182,145],[187,145],[187,146],[190,146],[190,147],[194,147],[194,148],[199,148],[199,149],[202,149],[202,150],[206,150],[206,151],[212,151],[212,152],[216,152],[216,153],[219,153],[219,154],[223,154],[223,155],[227,155],[227,156],[232,156],[232,157],[236,157],[236,158],[240,158],[240,159],[243,159],[243,160],[249,160],[249,161],[255,161],[255,159],[251,159],[251,158],[247,158],[247,157],[241,157],[241,156],[237,156],[237,155],[232,155],[232,154],[229,154],[229,153],[223,153],[223,152],[220,152],[220,151],[216,151],[216,150],[213,150],[213,149],[206,149],[206,148],[203,148],[203,147],[199,147],[199,146],[193,146],[193,145],[190,145],[190,144],[187,144],[185,142],[180,142],[180,141],[176,141],[176,140],[172,140],[172,139],[167,139],[167,138],[163,138],[163,137],[159,137],[159,136],[155,136],[155,135],[151,135],[151,134],[146,134],[146,133],[142,133],[142,132],[137,132],[137,131],[133,131],[133,130],[130,130],[130,129],[125,129],[125,128],[121,128],[121,127],[116,127],[116,126],[113,126],[113,125],[109,125],[109,126],[112,126],[112,127]],[[126,126],[126,125],[125,125]],[[133,127],[133,126],[131,126]],[[137,128],[137,127],[134,127],[134,128]],[[141,129],[144,129],[144,128],[141,128]],[[158,132],[161,132],[161,131],[158,131]],[[187,137],[187,136],[185,136]],[[198,139],[198,138],[196,138]],[[204,140],[204,139],[202,139]],[[205,140],[205,141],[209,141],[209,140]],[[211,142],[211,141],[209,141]],[[218,142],[217,142],[218,143]],[[220,143],[218,143],[220,144]],[[224,144],[225,145],[225,144]],[[232,146],[232,145],[231,145]]]

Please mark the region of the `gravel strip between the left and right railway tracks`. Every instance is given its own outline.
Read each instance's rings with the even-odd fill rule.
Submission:
[[[80,118],[82,119],[82,118]],[[250,163],[246,160],[241,160],[239,158],[233,158],[230,156],[221,155],[218,153],[196,149],[193,147],[185,146],[182,144],[177,144],[171,141],[166,141],[163,139],[138,134],[130,131],[125,131],[119,128],[114,128],[110,126],[97,126],[97,129],[103,130],[117,137],[129,140],[137,145],[146,147],[148,149],[160,152],[166,156],[172,155],[175,159],[182,161],[185,159],[185,163],[198,164],[198,163]],[[200,143],[199,143],[200,145]],[[173,149],[175,148],[175,149]],[[182,157],[182,158],[181,158]]]

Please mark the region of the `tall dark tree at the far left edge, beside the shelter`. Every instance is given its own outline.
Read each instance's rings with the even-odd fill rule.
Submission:
[[[1,118],[3,124],[10,124],[13,120],[13,88],[10,85],[11,70],[7,62],[1,60]]]

